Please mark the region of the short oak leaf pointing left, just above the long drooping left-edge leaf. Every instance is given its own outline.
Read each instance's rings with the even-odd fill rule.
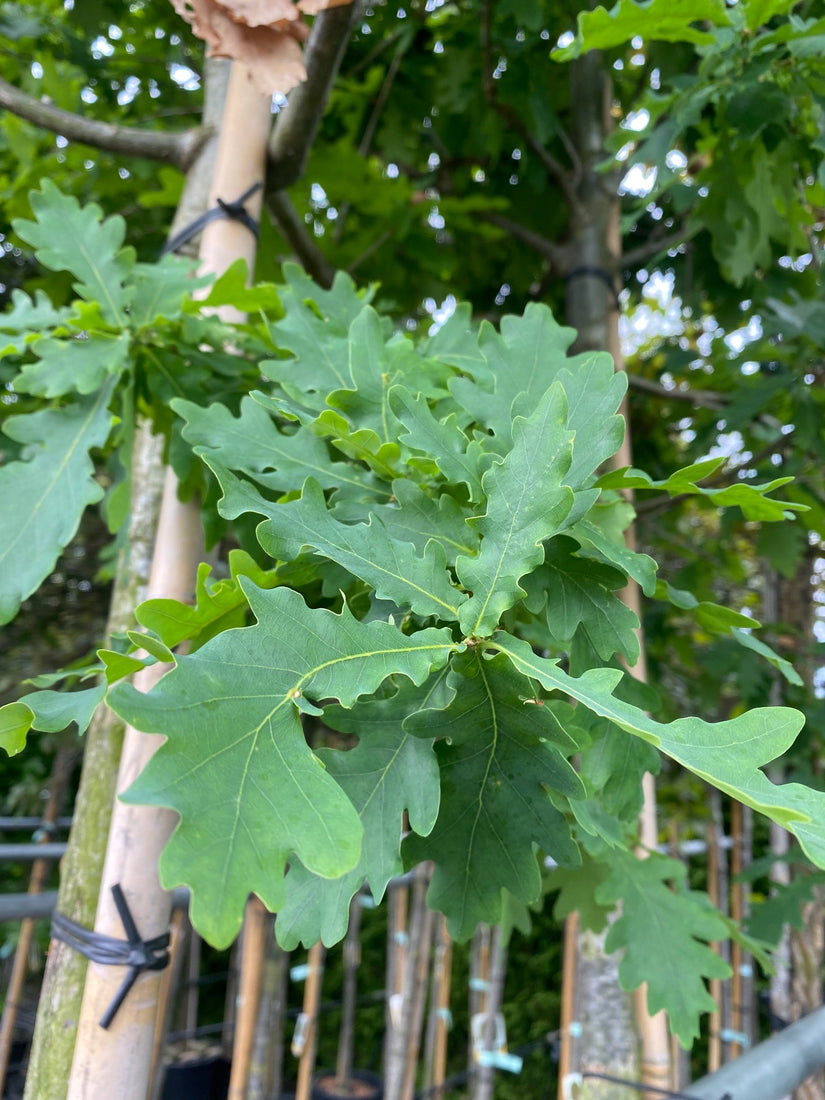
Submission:
[[[129,350],[128,332],[95,332],[85,340],[37,340],[32,345],[37,360],[23,366],[14,388],[37,397],[92,394],[109,375],[124,370]]]

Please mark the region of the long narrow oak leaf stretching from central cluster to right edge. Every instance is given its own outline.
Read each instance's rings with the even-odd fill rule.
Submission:
[[[726,722],[678,718],[662,724],[613,694],[623,673],[591,669],[569,676],[554,661],[537,657],[527,642],[504,632],[491,645],[547,691],[561,691],[622,729],[641,737],[700,779],[751,806],[792,833],[809,858],[825,867],[825,792],[801,783],[774,784],[760,769],[785,752],[804,723],[787,706],[758,707]]]

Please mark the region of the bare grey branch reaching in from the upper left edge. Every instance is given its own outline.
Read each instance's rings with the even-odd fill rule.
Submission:
[[[4,107],[18,118],[32,122],[35,127],[62,134],[69,141],[106,150],[108,153],[123,153],[125,156],[143,156],[150,161],[174,164],[186,170],[197,156],[198,150],[209,136],[208,130],[199,127],[178,133],[163,133],[158,130],[136,130],[119,127],[112,122],[87,119],[73,111],[44,103],[34,96],[20,91],[0,77],[0,107]]]

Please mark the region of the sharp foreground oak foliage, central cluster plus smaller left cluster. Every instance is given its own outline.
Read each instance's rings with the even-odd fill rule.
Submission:
[[[271,316],[230,337],[197,312],[188,265],[135,264],[119,221],[101,221],[51,186],[33,209],[18,232],[44,265],[72,273],[80,297],[52,315],[50,337],[25,326],[36,311],[42,333],[45,299],[20,296],[7,321],[23,353],[15,389],[59,398],[7,421],[7,435],[30,447],[3,469],[0,527],[34,530],[40,502],[53,525],[40,565],[24,538],[7,539],[7,618],[100,495],[91,453],[110,433],[113,442],[130,437],[134,410],[157,408],[150,394],[162,402],[162,426],[172,387],[198,395],[169,402],[184,422],[176,464],[190,483],[215,477],[223,520],[256,517],[254,542],[243,536],[249,524],[239,529],[229,578],[210,584],[201,571],[194,608],[151,601],[139,609],[147,632],[132,635],[133,647],[175,668],[148,694],[116,683],[108,695],[122,717],[167,739],[127,796],[180,815],[162,877],[191,888],[196,927],[228,944],[254,891],[280,911],[286,944],[334,942],[362,882],[381,898],[405,866],[431,860],[430,903],[465,938],[480,921],[503,919],[505,897],[522,906],[538,900],[542,858],[575,867],[584,853],[610,868],[597,901],[626,902],[612,933],[628,948],[624,978],[647,980],[651,1008],[667,1007],[688,1042],[707,1007],[702,976],[724,968],[707,942],[728,930],[686,891],[673,921],[675,895],[664,884],[673,868],[629,855],[641,777],[657,767],[650,747],[781,822],[821,865],[823,796],[773,787],[759,770],[799,732],[793,711],[716,725],[646,715],[648,700],[618,663],[638,657],[638,622],[614,592],[632,576],[654,595],[657,565],[625,547],[616,486],[717,504],[729,494],[746,515],[778,520],[794,507],[766,495],[782,480],[703,490],[714,463],[661,484],[638,472],[600,480],[622,441],[626,382],[604,353],[569,355],[574,333],[546,307],[505,318],[501,332],[476,329],[460,307],[414,343],[344,276],[324,292],[287,267],[284,287],[250,292]],[[220,351],[230,339],[248,350],[268,344],[277,358],[255,372]],[[72,370],[76,350],[95,343],[100,352],[78,355]],[[56,354],[63,370],[46,370]],[[240,399],[253,375],[257,387]],[[88,424],[100,425],[97,433]],[[85,464],[73,493],[51,475],[70,461]],[[706,628],[750,638],[741,626],[752,620],[703,610]],[[185,640],[193,651],[173,657]],[[7,750],[22,747],[30,726],[85,728],[106,683],[141,664],[128,652],[100,658],[87,670],[105,671],[100,686],[43,689],[4,707]],[[358,747],[318,743],[314,751],[306,719],[356,734]],[[402,844],[405,810],[411,833]],[[631,919],[637,892],[644,903]],[[667,956],[647,949],[651,920],[671,930]],[[693,954],[676,950],[685,937]],[[664,972],[652,961],[673,956],[676,982],[672,964]]]

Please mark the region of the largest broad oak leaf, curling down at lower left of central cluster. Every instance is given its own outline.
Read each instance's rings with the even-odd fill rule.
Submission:
[[[237,935],[250,891],[283,905],[293,854],[324,878],[358,862],[358,813],[310,751],[299,707],[352,706],[393,673],[422,683],[457,648],[446,629],[406,636],[346,608],[310,609],[288,588],[241,585],[255,626],[177,657],[147,694],[118,684],[109,695],[132,725],[167,738],[124,798],[180,815],[161,877],[190,887],[193,923],[216,946]]]

